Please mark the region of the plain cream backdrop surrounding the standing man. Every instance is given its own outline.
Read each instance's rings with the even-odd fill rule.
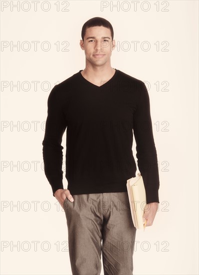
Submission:
[[[3,10],[2,2],[8,5]],[[150,1],[148,11],[143,1],[137,11],[132,1],[113,9],[111,1],[104,9],[102,1],[69,1],[68,11],[57,11],[58,1],[48,1],[48,11],[43,1],[36,11],[32,1],[24,7],[18,2],[17,11],[11,9],[17,1],[1,1],[1,273],[71,274],[65,213],[42,169],[43,122],[54,84],[85,67],[79,46],[83,23],[101,16],[120,43],[112,67],[150,84],[160,209],[153,226],[137,230],[134,274],[198,274],[198,1]],[[24,11],[28,2],[30,10]],[[66,3],[59,1],[61,8]],[[17,41],[18,50],[12,49]],[[39,41],[36,51],[32,41]],[[43,41],[51,44],[48,51]],[[63,41],[69,51],[61,51]],[[140,41],[137,50],[131,41]],[[150,50],[141,48],[143,41]],[[18,89],[12,88],[17,81]],[[65,141],[64,134],[63,155]]]

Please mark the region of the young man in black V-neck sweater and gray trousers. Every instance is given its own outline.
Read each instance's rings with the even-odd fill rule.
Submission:
[[[113,34],[104,18],[85,22],[80,40],[85,69],[55,85],[48,97],[44,170],[53,196],[65,210],[76,275],[100,274],[101,251],[105,275],[133,274],[136,228],[126,186],[127,179],[136,176],[133,132],[146,189],[147,226],[159,203],[149,94],[143,81],[111,67]],[[66,127],[64,189],[61,141]]]

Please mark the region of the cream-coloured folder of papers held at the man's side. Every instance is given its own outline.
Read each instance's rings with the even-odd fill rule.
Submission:
[[[134,226],[137,229],[145,229],[143,214],[147,201],[144,181],[141,173],[138,173],[136,177],[127,179],[127,191]]]

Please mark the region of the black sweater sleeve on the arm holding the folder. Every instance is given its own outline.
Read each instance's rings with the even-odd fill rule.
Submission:
[[[144,82],[141,82],[140,99],[133,117],[133,131],[138,168],[143,177],[147,203],[159,202],[158,159],[152,129],[149,93]]]

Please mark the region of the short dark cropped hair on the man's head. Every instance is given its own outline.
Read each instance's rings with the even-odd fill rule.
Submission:
[[[82,40],[84,40],[84,36],[86,34],[86,29],[88,27],[92,27],[92,26],[104,26],[104,27],[109,28],[111,30],[111,37],[113,40],[114,32],[113,32],[112,24],[108,20],[106,20],[102,17],[93,17],[83,24],[82,30],[81,30]]]

